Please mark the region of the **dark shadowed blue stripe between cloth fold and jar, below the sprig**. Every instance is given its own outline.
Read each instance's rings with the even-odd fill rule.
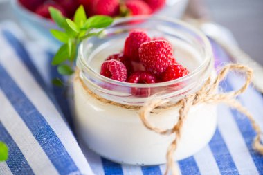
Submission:
[[[49,52],[47,52],[46,54],[48,55],[48,61],[51,62],[51,60],[53,59],[53,54]],[[54,78],[59,78],[60,80],[63,80],[62,75],[60,75],[57,72],[57,66],[52,66],[51,64],[49,65],[50,65],[49,72],[51,72],[51,80],[53,80]],[[52,86],[53,94],[55,96],[55,99],[57,100],[58,105],[60,106],[60,109],[62,110],[62,113],[64,114],[64,118],[68,122],[71,130],[75,131],[73,116],[71,115],[71,107],[69,106],[69,100],[66,97],[67,88],[69,87],[68,86],[58,87],[55,85]]]

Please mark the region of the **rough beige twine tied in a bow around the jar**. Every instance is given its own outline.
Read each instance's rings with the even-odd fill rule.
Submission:
[[[224,80],[224,78],[226,77],[226,75],[228,75],[230,71],[243,72],[246,77],[246,81],[244,85],[237,91],[217,93],[219,83],[222,80]],[[253,141],[253,149],[255,149],[255,151],[263,155],[263,145],[260,142],[260,137],[262,136],[262,131],[260,130],[260,126],[257,125],[257,122],[255,122],[251,113],[249,113],[249,111],[245,107],[243,107],[242,104],[240,104],[240,102],[236,100],[237,95],[240,95],[241,93],[244,93],[244,91],[246,91],[248,85],[251,83],[252,76],[253,76],[253,71],[251,68],[248,68],[248,66],[244,66],[242,64],[228,64],[221,69],[215,80],[212,80],[212,78],[209,77],[199,91],[185,96],[185,98],[179,100],[179,102],[172,102],[171,100],[149,100],[145,102],[143,107],[138,107],[138,106],[130,106],[127,104],[119,104],[116,102],[112,102],[110,100],[107,100],[105,98],[96,95],[95,93],[91,92],[84,84],[84,82],[80,79],[78,71],[76,73],[76,79],[80,80],[84,89],[97,100],[100,100],[101,102],[105,102],[108,104],[116,105],[118,107],[123,107],[126,109],[139,109],[140,119],[142,120],[143,125],[147,127],[147,129],[151,131],[155,131],[156,133],[159,133],[161,135],[171,136],[172,134],[175,134],[176,137],[174,138],[174,140],[172,141],[172,143],[167,149],[167,155],[166,155],[167,166],[166,166],[165,175],[167,175],[170,170],[173,175],[177,174],[177,169],[174,164],[174,152],[176,151],[179,140],[181,138],[183,123],[188,116],[188,112],[190,111],[190,108],[194,105],[201,103],[206,103],[206,104],[224,103],[227,104],[229,107],[237,109],[237,111],[239,111],[240,113],[244,113],[244,115],[251,122],[251,125],[256,133],[255,139]],[[179,119],[178,122],[176,122],[176,124],[174,124],[172,128],[162,129],[159,127],[155,127],[154,125],[151,124],[151,122],[149,122],[148,118],[150,116],[150,113],[154,109],[167,109],[168,107],[169,108],[179,107]]]

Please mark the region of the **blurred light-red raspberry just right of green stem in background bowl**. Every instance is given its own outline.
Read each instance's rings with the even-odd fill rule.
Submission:
[[[131,15],[149,15],[152,13],[148,4],[142,0],[128,0],[125,2],[125,6],[131,12]]]

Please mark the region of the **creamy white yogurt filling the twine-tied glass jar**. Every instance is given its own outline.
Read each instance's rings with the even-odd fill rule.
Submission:
[[[204,56],[209,56],[203,55],[201,51],[199,52],[198,49],[192,46],[192,43],[182,41],[182,39],[177,37],[164,37],[173,44],[177,62],[188,68],[190,73],[196,71],[203,64]],[[203,36],[201,36],[201,39],[203,39]],[[197,39],[194,42],[198,42],[199,40]],[[138,110],[125,109],[100,102],[87,92],[87,89],[89,89],[102,98],[128,105],[141,106],[147,100],[147,98],[132,97],[129,90],[127,90],[130,84],[127,84],[127,86],[123,85],[122,87],[111,84],[109,88],[109,86],[102,84],[104,77],[96,75],[99,73],[100,65],[107,56],[122,50],[124,41],[125,37],[109,39],[103,44],[95,46],[92,51],[88,50],[87,53],[85,53],[85,49],[89,48],[89,42],[92,42],[92,40],[80,46],[78,57],[80,73],[77,76],[80,77],[82,82],[80,79],[74,80],[76,129],[90,149],[110,160],[133,165],[157,165],[165,163],[167,147],[174,139],[175,134],[161,136],[154,131],[150,131],[140,120]],[[89,59],[85,59],[84,57],[86,56]],[[187,84],[188,89],[180,87],[170,93],[162,93],[159,95],[159,98],[179,100],[184,95],[198,91],[203,82],[213,73],[212,57],[210,59],[207,66],[203,68],[202,73],[199,75],[196,73],[196,75],[194,74],[195,77],[192,75],[192,79],[188,77],[185,78],[185,81],[180,82],[181,86],[186,86]],[[89,65],[89,68],[92,70],[85,71],[83,64]],[[92,73],[96,76],[89,77],[89,74]],[[191,83],[193,84],[190,86],[189,84]],[[118,93],[118,89],[120,93]],[[163,86],[163,89],[165,89],[165,86]],[[154,110],[149,120],[156,127],[163,129],[171,128],[178,120],[178,111],[179,109],[176,107]],[[216,124],[215,106],[210,104],[197,104],[193,106],[188,113],[188,118],[184,122],[179,146],[174,154],[175,160],[192,156],[192,154],[204,147],[215,133]]]

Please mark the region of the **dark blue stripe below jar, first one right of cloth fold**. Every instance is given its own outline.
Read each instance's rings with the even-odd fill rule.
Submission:
[[[101,158],[105,175],[123,175],[123,169],[120,164]]]

